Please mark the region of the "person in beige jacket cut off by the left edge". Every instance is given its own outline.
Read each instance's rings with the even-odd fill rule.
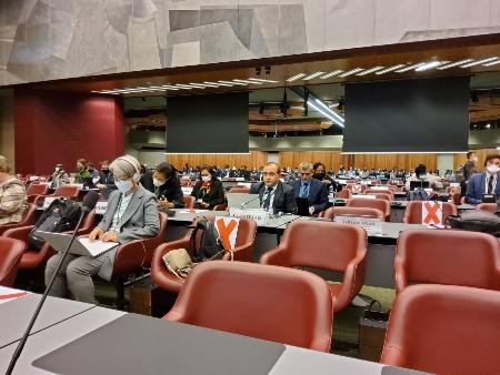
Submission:
[[[0,224],[19,223],[28,206],[24,184],[9,172],[7,158],[0,155]]]

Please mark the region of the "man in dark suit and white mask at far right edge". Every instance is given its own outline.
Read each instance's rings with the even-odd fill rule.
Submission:
[[[467,184],[466,202],[479,204],[483,194],[500,195],[500,183],[498,174],[500,172],[500,155],[488,155],[484,160],[484,173],[472,174]]]

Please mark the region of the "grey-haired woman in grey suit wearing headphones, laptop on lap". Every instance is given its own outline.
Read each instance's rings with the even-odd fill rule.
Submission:
[[[157,199],[138,184],[139,162],[124,155],[117,158],[110,165],[118,190],[108,200],[104,216],[89,234],[90,240],[120,244],[132,240],[152,237],[160,232],[160,217]],[[68,254],[50,291],[50,295],[64,297],[68,290],[77,301],[96,303],[92,276],[109,281],[112,276],[117,247],[96,256]],[[46,285],[56,272],[62,253],[49,259],[46,266]]]

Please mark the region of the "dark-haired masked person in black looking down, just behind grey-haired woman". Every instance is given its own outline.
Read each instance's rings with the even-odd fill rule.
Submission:
[[[177,171],[171,164],[166,162],[158,164],[152,179],[154,195],[160,209],[182,209],[184,206],[184,194]]]

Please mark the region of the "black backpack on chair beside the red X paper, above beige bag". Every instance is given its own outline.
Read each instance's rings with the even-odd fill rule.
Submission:
[[[201,232],[200,249],[197,249],[197,234]],[[216,224],[207,219],[198,221],[197,226],[191,233],[190,256],[194,263],[207,260],[220,259],[224,254],[224,246],[219,239]]]

